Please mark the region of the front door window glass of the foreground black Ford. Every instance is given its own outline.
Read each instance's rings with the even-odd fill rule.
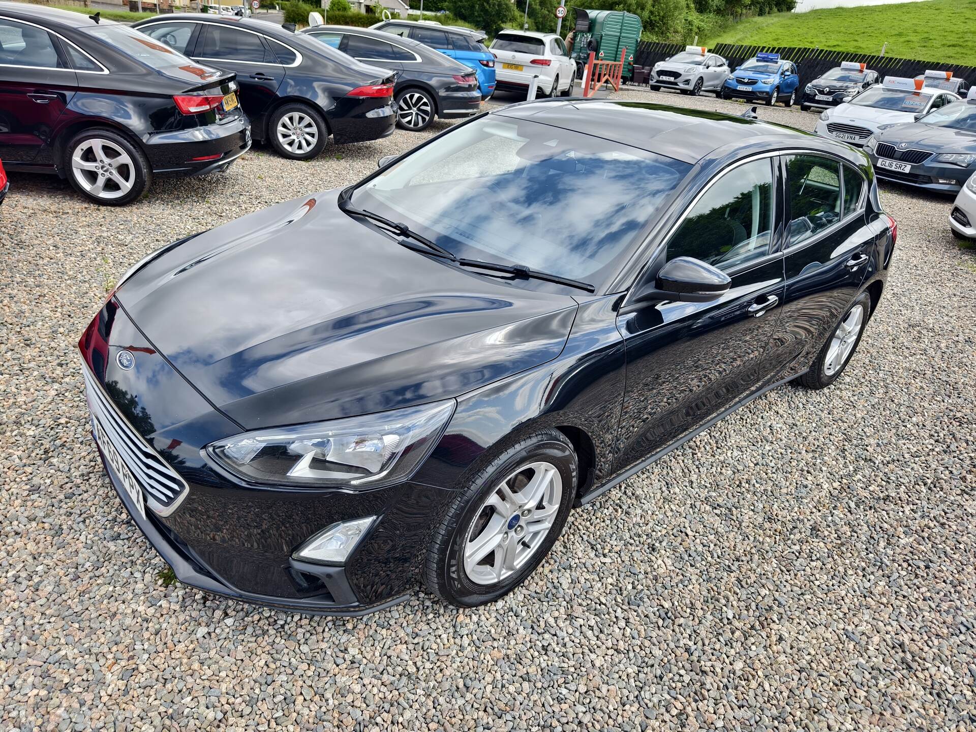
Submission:
[[[712,183],[671,236],[668,259],[693,257],[729,269],[764,257],[772,229],[772,162],[753,160]]]

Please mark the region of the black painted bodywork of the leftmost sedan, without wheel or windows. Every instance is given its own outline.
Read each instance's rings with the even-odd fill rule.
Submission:
[[[250,147],[248,118],[238,106],[182,114],[173,95],[237,89],[232,73],[176,58],[150,66],[92,36],[94,20],[80,13],[0,2],[0,18],[51,31],[61,68],[0,63],[0,158],[9,171],[65,175],[64,145],[92,127],[124,134],[145,154],[153,172],[202,175],[225,168]],[[102,25],[113,25],[102,20]],[[107,72],[75,70],[68,44]],[[185,60],[183,60],[185,61]],[[218,161],[190,158],[221,154]]]

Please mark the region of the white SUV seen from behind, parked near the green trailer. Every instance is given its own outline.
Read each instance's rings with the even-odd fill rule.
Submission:
[[[569,97],[576,82],[576,62],[555,33],[503,30],[491,44],[495,55],[496,91],[527,92],[539,76],[537,95]]]

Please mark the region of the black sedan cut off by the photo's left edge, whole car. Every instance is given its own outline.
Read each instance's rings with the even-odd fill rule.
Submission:
[[[0,2],[0,158],[66,178],[96,203],[139,198],[153,176],[226,170],[251,146],[234,74],[127,25]]]

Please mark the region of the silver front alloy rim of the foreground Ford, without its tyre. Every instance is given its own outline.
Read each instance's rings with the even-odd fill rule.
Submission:
[[[562,502],[562,475],[551,463],[518,468],[478,509],[465,541],[465,574],[494,585],[525,566],[546,541]]]

